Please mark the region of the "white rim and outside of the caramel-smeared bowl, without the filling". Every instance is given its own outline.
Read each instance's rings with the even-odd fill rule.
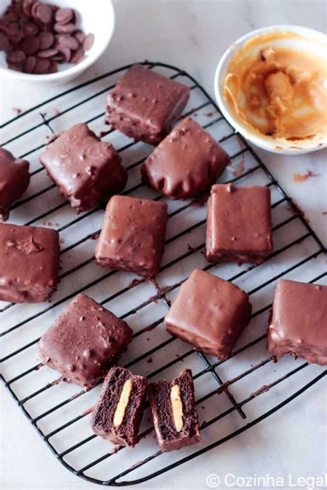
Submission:
[[[224,84],[230,59],[232,59],[235,52],[237,52],[250,38],[257,36],[258,34],[266,34],[267,32],[278,30],[284,32],[295,32],[299,34],[302,38],[286,38],[284,41],[282,41],[284,46],[289,46],[290,48],[299,48],[301,47],[301,45],[303,46],[303,43],[306,43],[306,50],[310,50],[311,47],[313,52],[317,52],[317,43],[319,43],[319,45],[321,45],[321,56],[326,57],[326,34],[323,34],[322,32],[319,32],[317,30],[304,28],[299,25],[270,25],[268,27],[249,32],[245,36],[237,39],[235,43],[232,43],[232,45],[230,45],[230,47],[223,54],[217,65],[217,69],[215,72],[215,96],[219,105],[219,109],[221,110],[222,114],[224,114],[227,121],[232,125],[232,127],[235,127],[235,130],[237,130],[242,136],[244,136],[244,138],[250,141],[250,143],[254,143],[264,150],[279,154],[301,154],[320,150],[321,148],[327,147],[327,136],[319,141],[307,140],[303,143],[301,142],[299,145],[296,145],[294,141],[277,141],[273,138],[268,138],[267,136],[260,136],[258,132],[249,131],[245,123],[243,124],[239,119],[236,119],[235,116],[231,114],[228,103],[224,98],[222,87]],[[270,45],[274,45],[274,42],[271,42]],[[257,49],[260,50],[260,46],[258,46]]]

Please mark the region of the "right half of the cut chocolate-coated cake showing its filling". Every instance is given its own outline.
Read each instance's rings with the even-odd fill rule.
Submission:
[[[172,382],[151,383],[148,394],[161,451],[181,449],[199,442],[199,420],[190,369],[181,371]]]

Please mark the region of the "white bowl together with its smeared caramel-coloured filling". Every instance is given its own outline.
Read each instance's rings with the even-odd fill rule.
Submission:
[[[272,25],[230,45],[215,73],[219,108],[250,143],[299,154],[327,146],[327,37]]]

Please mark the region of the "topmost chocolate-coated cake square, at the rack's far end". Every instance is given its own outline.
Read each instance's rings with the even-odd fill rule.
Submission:
[[[106,99],[106,123],[139,141],[157,144],[170,132],[188,102],[190,89],[134,65]]]

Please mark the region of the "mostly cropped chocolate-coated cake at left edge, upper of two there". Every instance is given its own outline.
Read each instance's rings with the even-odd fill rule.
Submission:
[[[0,221],[6,221],[10,205],[28,188],[30,164],[0,147]]]

